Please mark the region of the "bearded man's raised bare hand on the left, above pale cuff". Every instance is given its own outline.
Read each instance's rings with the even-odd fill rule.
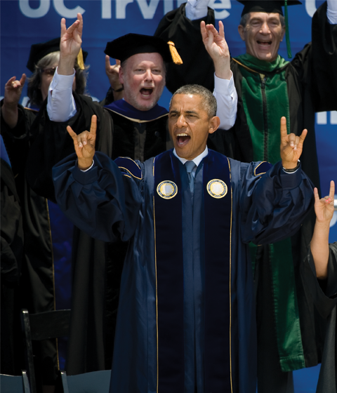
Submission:
[[[65,18],[61,19],[60,63],[58,65],[58,74],[71,75],[73,73],[74,62],[81,49],[82,32],[83,18],[80,13],[77,14],[77,20],[68,28],[65,25]]]

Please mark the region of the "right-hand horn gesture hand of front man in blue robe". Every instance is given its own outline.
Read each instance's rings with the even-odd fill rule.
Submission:
[[[303,142],[308,130],[303,130],[300,136],[286,133],[286,118],[281,118],[281,159],[286,169],[296,168],[303,150]]]

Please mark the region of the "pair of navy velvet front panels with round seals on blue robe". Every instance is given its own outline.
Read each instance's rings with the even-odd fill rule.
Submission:
[[[154,159],[157,392],[161,393],[183,392],[185,383],[183,205],[179,171],[178,160],[174,159],[172,152]],[[220,196],[207,191],[214,181],[218,185],[225,183]],[[171,193],[161,193],[160,187],[163,184],[171,189]],[[203,184],[205,386],[206,392],[230,393],[232,189],[230,166],[225,156],[211,155],[204,159]],[[216,231],[212,230],[214,222]],[[171,237],[173,233],[174,247]]]

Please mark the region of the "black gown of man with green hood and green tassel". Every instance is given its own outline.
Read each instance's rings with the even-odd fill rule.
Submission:
[[[203,20],[214,24],[215,18],[211,8]],[[177,88],[187,83],[204,84],[205,87],[213,90],[214,67],[201,41],[200,21],[187,19],[185,4],[183,4],[180,8],[167,13],[157,27],[155,35],[161,36],[166,41],[175,42],[180,48],[180,55],[184,61],[184,65],[179,66],[180,68],[176,65],[169,65],[166,86],[171,91],[176,91]],[[312,42],[297,53],[286,66],[290,131],[298,135],[304,128],[308,129],[305,148],[300,160],[303,171],[309,175],[317,187],[319,187],[319,171],[315,140],[315,112],[337,109],[336,45],[337,25],[329,24],[326,18],[326,3],[324,3],[312,18]],[[191,51],[195,51],[194,54],[190,53]],[[196,53],[198,53],[197,58]],[[237,122],[230,130],[230,134],[223,134],[227,140],[218,134],[218,131],[213,134],[218,138],[213,148],[220,149],[218,150],[220,152],[226,152],[227,149],[226,153],[234,159],[250,162],[253,161],[253,143],[246,114],[240,101],[242,95],[241,66],[232,60],[231,69],[239,96]],[[205,75],[208,77],[206,78]],[[314,224],[315,215],[312,214],[292,240],[305,366],[314,366],[319,362],[323,340],[321,329],[315,326],[311,318],[312,313],[315,313],[315,307],[312,302],[308,302],[298,274],[300,261],[306,255]]]

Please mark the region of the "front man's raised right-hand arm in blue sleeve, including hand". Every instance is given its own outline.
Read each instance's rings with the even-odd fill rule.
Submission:
[[[313,205],[312,182],[298,160],[307,130],[300,136],[287,134],[286,118],[282,117],[280,134],[281,162],[274,166],[259,162],[242,164],[246,166],[242,174],[245,242],[270,244],[286,239],[296,233]]]

